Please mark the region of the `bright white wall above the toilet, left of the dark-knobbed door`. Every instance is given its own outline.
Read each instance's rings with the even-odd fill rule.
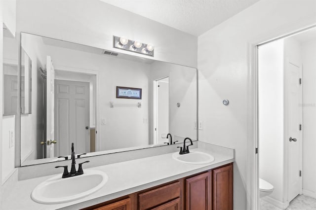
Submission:
[[[284,41],[259,47],[259,177],[275,190],[271,198],[284,195]]]

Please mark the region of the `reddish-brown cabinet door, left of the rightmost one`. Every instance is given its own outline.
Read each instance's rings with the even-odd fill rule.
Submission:
[[[210,173],[186,179],[186,210],[210,210]]]

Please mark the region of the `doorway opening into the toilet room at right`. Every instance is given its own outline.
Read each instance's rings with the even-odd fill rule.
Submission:
[[[311,109],[316,106],[306,105],[316,102],[312,94],[316,28],[259,44],[256,49],[259,209],[304,209],[299,204],[304,203],[302,199],[310,199],[316,206],[316,194],[311,193],[316,190],[316,179],[309,177],[316,176],[316,171],[309,169],[311,157],[304,155],[314,150],[309,143],[313,139],[309,125],[314,119]],[[270,183],[272,190],[265,188],[262,180]],[[313,190],[307,190],[310,188]]]

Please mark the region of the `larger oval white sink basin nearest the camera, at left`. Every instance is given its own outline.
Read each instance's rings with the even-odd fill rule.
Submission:
[[[84,170],[83,175],[62,178],[56,175],[41,182],[31,198],[41,204],[60,204],[83,198],[99,190],[108,181],[108,175],[98,170]]]

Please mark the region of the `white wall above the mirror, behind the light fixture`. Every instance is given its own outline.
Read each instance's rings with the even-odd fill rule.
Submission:
[[[157,60],[197,67],[196,36],[100,0],[18,0],[16,25],[18,33],[28,32],[115,51],[118,50],[113,48],[113,35],[139,39],[155,45]]]

